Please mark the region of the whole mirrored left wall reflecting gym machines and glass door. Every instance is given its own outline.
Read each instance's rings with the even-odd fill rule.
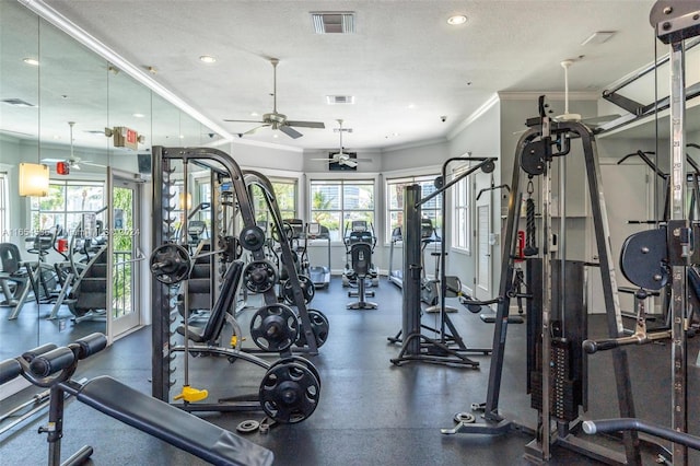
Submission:
[[[0,34],[4,359],[141,325],[151,145],[221,138],[19,2]]]

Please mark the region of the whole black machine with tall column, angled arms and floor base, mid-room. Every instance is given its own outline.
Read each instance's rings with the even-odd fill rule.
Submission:
[[[495,168],[495,158],[452,158],[443,163],[438,189],[424,198],[420,198],[420,185],[407,186],[404,194],[404,293],[402,293],[402,326],[401,334],[405,336],[401,350],[398,357],[390,361],[400,365],[409,361],[423,361],[436,364],[464,365],[478,369],[479,362],[467,358],[464,353],[489,354],[491,348],[468,348],[452,319],[445,310],[445,293],[447,290],[445,281],[445,242],[441,243],[441,278],[440,278],[440,329],[439,339],[429,338],[421,333],[421,304],[420,304],[420,279],[421,279],[421,206],[435,196],[444,194],[452,186],[463,178],[481,170],[490,173]],[[446,182],[447,165],[455,161],[478,162]],[[442,197],[443,219],[446,211],[445,196]],[[443,220],[444,222],[444,220]],[[444,233],[443,233],[444,236]],[[450,334],[445,330],[448,327]],[[433,329],[438,330],[438,329]],[[398,336],[389,341],[398,341]],[[431,351],[431,348],[434,350]]]

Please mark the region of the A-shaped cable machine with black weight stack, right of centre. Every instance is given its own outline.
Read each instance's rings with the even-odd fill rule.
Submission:
[[[499,396],[508,334],[510,300],[513,295],[513,276],[516,254],[517,222],[521,215],[523,174],[539,177],[541,229],[537,256],[527,258],[527,282],[533,299],[528,300],[528,392],[532,406],[538,413],[535,440],[526,447],[526,454],[537,461],[550,458],[553,444],[612,464],[641,464],[635,432],[625,434],[625,454],[585,442],[573,435],[580,426],[579,411],[585,411],[586,364],[582,342],[586,338],[586,311],[583,305],[584,267],[581,261],[567,260],[565,245],[553,247],[552,234],[552,161],[563,163],[571,150],[571,140],[581,141],[586,172],[595,242],[599,256],[603,298],[607,331],[611,338],[621,337],[623,328],[617,291],[615,264],[610,255],[609,226],[605,197],[600,186],[600,168],[593,131],[579,121],[555,121],[547,116],[545,96],[539,98],[539,116],[529,118],[528,129],[520,138],[513,161],[512,190],[503,237],[501,281],[494,333],[493,354],[489,372],[489,385],[485,404],[474,404],[472,409],[483,411],[485,422],[458,422],[453,429],[442,429],[444,434],[477,433],[502,434],[515,427],[499,412]],[[562,165],[560,165],[561,167]],[[563,172],[563,170],[562,170]],[[563,176],[560,176],[563,187]],[[561,189],[560,187],[560,189]],[[560,194],[561,232],[564,228],[565,205]],[[529,220],[529,219],[528,219]],[[560,233],[560,237],[563,238]],[[556,254],[556,251],[559,254]],[[578,284],[578,286],[576,286]],[[564,291],[565,290],[565,291]],[[580,302],[579,302],[580,301]],[[621,417],[633,417],[634,405],[629,381],[629,364],[623,348],[612,350],[615,381]],[[472,418],[474,420],[474,418]],[[518,426],[521,430],[527,427]]]

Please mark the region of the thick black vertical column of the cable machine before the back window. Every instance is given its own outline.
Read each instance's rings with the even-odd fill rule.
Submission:
[[[404,195],[404,354],[420,353],[420,186],[406,187]]]

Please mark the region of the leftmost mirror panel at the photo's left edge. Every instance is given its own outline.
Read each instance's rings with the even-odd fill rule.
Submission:
[[[24,248],[30,211],[19,197],[20,163],[39,162],[39,20],[16,2],[0,2],[0,359],[4,359],[39,340],[37,310],[22,305],[31,294],[21,264],[30,259]]]

